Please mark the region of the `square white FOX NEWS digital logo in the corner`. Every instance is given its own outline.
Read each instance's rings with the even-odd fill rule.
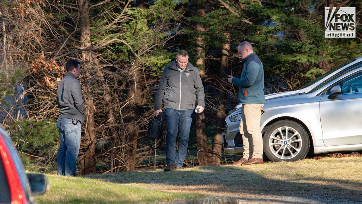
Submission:
[[[356,35],[356,8],[324,7],[324,37],[353,38]]]

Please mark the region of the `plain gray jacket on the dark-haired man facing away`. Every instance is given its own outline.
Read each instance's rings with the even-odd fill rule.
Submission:
[[[60,80],[56,90],[56,101],[60,109],[58,119],[77,119],[81,123],[84,122],[85,112],[82,90],[73,73],[67,72],[66,76]]]

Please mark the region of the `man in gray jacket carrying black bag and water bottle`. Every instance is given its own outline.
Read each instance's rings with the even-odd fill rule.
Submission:
[[[157,116],[162,113],[164,102],[167,122],[165,171],[182,168],[189,145],[196,95],[198,104],[195,112],[201,113],[205,107],[205,93],[198,69],[189,63],[188,53],[179,50],[175,60],[163,70],[154,107]],[[176,154],[177,132],[179,142]]]

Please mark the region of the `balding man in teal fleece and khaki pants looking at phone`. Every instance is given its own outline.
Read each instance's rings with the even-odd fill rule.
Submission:
[[[239,86],[239,104],[243,105],[239,131],[243,138],[244,152],[243,158],[233,164],[262,164],[264,161],[260,113],[265,103],[263,64],[250,42],[241,42],[237,52],[243,59],[243,72],[240,78],[228,76],[228,81]]]

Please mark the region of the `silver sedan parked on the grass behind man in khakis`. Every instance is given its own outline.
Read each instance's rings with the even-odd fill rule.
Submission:
[[[295,161],[308,152],[362,150],[362,66],[307,93],[266,99],[260,127],[271,161]],[[242,154],[240,108],[230,112],[223,132],[225,151]]]

